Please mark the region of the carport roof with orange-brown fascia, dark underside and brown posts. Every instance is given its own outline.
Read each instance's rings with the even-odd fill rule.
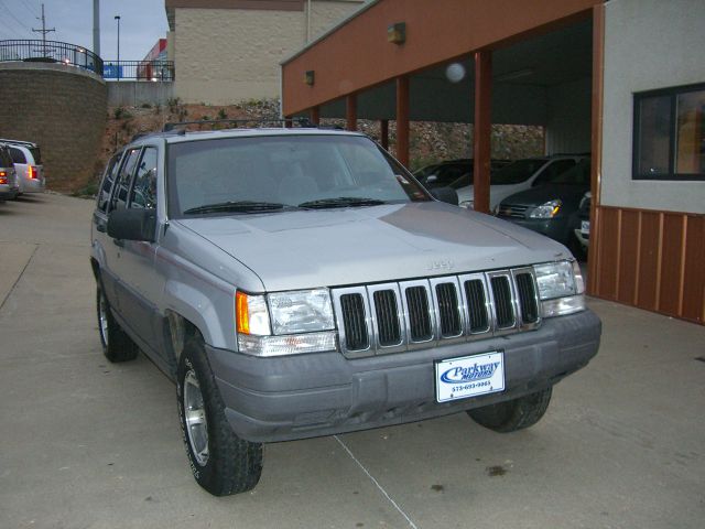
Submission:
[[[384,147],[395,119],[402,163],[410,121],[474,123],[475,209],[487,213],[491,123],[545,125],[546,88],[587,79],[595,227],[604,10],[604,0],[375,0],[282,62],[282,114],[345,118],[349,129],[380,120]],[[388,40],[398,23],[403,43]],[[459,82],[448,80],[452,63],[466,72]],[[590,252],[596,245],[594,236]]]

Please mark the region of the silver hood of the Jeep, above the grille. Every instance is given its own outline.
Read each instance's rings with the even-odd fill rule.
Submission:
[[[247,266],[268,291],[455,274],[571,256],[533,231],[436,202],[174,224]]]

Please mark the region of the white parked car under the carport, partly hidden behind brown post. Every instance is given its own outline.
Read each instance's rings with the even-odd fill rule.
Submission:
[[[514,193],[535,187],[553,176],[567,171],[577,162],[587,158],[582,154],[566,154],[541,158],[524,158],[503,166],[490,176],[489,207],[495,210],[497,205]],[[471,185],[457,190],[458,205],[473,209],[475,193]]]

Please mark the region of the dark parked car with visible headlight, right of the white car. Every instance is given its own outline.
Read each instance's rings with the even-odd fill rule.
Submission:
[[[508,196],[499,204],[497,216],[576,248],[574,229],[589,188],[590,161],[585,159],[543,185]]]

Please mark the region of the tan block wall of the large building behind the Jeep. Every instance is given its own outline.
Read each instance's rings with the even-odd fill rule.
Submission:
[[[274,9],[175,9],[174,96],[227,105],[279,97],[279,63],[360,7],[359,0],[314,0],[311,17]]]

